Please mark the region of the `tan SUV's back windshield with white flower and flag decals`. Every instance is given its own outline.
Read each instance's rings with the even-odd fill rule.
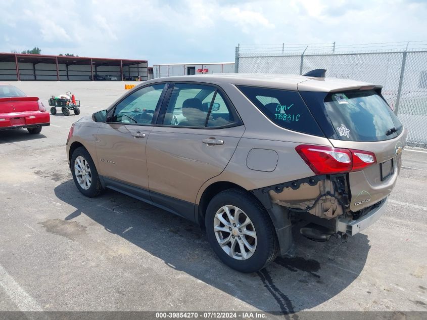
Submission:
[[[374,90],[329,93],[324,105],[341,140],[382,141],[402,132],[402,124]]]

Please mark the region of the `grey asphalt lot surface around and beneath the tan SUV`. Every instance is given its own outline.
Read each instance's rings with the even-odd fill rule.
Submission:
[[[250,275],[220,262],[197,225],[114,191],[76,189],[72,122],[107,108],[121,81],[11,82],[45,102],[71,90],[41,134],[0,131],[0,311],[426,311],[427,151],[403,152],[387,213],[346,242],[296,234],[296,257]]]

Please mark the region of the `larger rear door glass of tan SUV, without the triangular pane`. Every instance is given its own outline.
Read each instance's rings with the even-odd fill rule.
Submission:
[[[164,124],[183,127],[204,127],[210,103],[207,97],[215,93],[208,85],[175,84],[166,109]]]

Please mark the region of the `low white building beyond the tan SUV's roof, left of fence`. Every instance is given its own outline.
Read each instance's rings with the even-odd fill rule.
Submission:
[[[153,72],[155,78],[205,73],[234,73],[234,62],[155,64]]]

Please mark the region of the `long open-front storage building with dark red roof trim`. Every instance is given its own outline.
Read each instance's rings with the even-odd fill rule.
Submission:
[[[147,60],[0,53],[0,80],[90,80],[94,75],[148,80]]]

